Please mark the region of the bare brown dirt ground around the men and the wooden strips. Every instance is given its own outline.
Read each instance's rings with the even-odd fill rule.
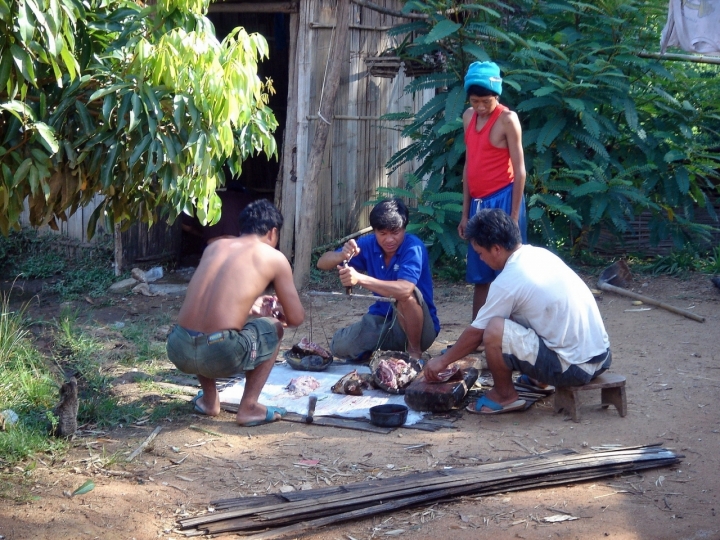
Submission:
[[[599,392],[585,399],[579,423],[554,414],[549,398],[520,413],[487,418],[465,413],[453,429],[398,429],[388,435],[291,422],[239,428],[230,413],[201,417],[188,404],[187,417],[158,424],[162,430],[157,438],[131,463],[125,456],[157,425],[85,430],[65,459],[39,460],[31,472],[5,471],[6,476],[15,473],[16,495],[25,490],[34,497],[25,498],[31,502],[0,503],[0,539],[180,539],[184,535],[176,529],[177,520],[207,512],[211,500],[463,467],[560,448],[586,452],[601,445],[658,442],[684,455],[679,466],[462,498],[327,527],[305,537],[720,539],[720,291],[702,275],[686,280],[639,277],[633,288],[707,320],[698,323],[654,307],[639,311],[650,306],[604,294],[599,306],[613,350],[611,371],[627,377],[625,418],[613,407],[602,409]],[[464,285],[436,286],[443,329],[431,352],[452,343],[468,323],[470,293]],[[325,335],[367,308],[359,300],[319,297],[312,299],[311,308],[305,299],[313,339],[321,344]],[[127,296],[92,315],[101,329],[147,314],[157,318],[167,313],[172,320],[180,302],[177,297]],[[56,316],[52,311],[59,313],[60,306],[45,309],[46,315]],[[286,333],[283,348],[309,333],[309,319],[297,333]],[[128,396],[143,392],[132,376],[126,380],[118,391]],[[427,446],[408,448],[416,445]],[[113,454],[119,459],[108,462]],[[318,463],[307,466],[301,460]],[[68,497],[88,479],[95,482],[94,490]],[[579,519],[543,521],[555,514]],[[216,538],[230,537],[235,536]]]

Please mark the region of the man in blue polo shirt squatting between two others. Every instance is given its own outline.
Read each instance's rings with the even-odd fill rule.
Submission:
[[[400,199],[381,201],[370,212],[373,234],[349,240],[318,260],[320,270],[338,269],[343,286],[360,286],[394,300],[375,302],[359,322],[335,332],[330,344],[334,356],[366,361],[381,349],[420,358],[435,341],[440,322],[428,253],[417,236],[405,233],[408,217]]]

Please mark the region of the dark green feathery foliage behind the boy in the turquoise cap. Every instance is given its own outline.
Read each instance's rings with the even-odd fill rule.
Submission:
[[[437,93],[417,114],[395,115],[412,143],[388,168],[420,160],[415,176],[426,186],[461,192],[463,78],[470,63],[492,60],[501,101],[523,126],[530,225],[547,241],[593,245],[601,230],[628,231],[643,211],[654,240],[707,235],[693,220],[697,208],[714,216],[718,194],[719,70],[638,55],[657,49],[666,3],[413,0],[404,9],[427,19],[392,30],[406,36],[399,54],[442,62],[406,87]],[[455,239],[450,256],[462,253]]]

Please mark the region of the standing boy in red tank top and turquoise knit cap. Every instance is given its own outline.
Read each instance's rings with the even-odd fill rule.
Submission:
[[[463,113],[467,151],[458,234],[465,238],[468,220],[481,208],[501,208],[517,223],[526,243],[522,129],[517,114],[500,104],[502,78],[498,65],[473,62],[465,75],[465,91],[470,108]],[[490,283],[498,273],[468,248],[466,279],[475,284],[472,319],[485,304]]]

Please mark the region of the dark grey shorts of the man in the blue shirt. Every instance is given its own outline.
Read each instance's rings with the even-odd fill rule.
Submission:
[[[423,308],[423,328],[420,335],[420,348],[426,351],[435,341],[437,332],[420,290],[415,287],[415,298]],[[356,360],[365,353],[407,350],[407,336],[398,322],[395,308],[387,317],[366,313],[355,324],[341,328],[333,335],[330,351],[337,358]]]

